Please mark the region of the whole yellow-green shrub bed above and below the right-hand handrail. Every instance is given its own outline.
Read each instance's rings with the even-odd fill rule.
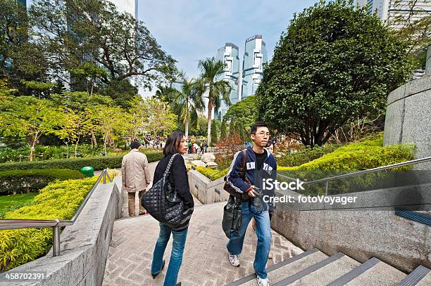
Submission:
[[[301,166],[279,167],[277,171],[278,174],[299,178],[302,181],[314,181],[320,178],[413,160],[413,145],[401,144],[383,147],[382,143],[382,138],[351,143],[316,160],[301,164]],[[397,172],[408,169],[411,169],[411,167],[399,167],[389,171],[379,171],[331,181],[328,185],[328,194],[335,195],[361,190],[389,188],[393,186],[394,178],[398,176]],[[325,194],[325,182],[306,185],[306,190],[301,191],[301,193],[303,195],[323,195]]]

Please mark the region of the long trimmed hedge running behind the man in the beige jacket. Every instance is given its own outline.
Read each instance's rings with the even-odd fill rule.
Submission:
[[[155,162],[163,158],[162,152],[145,152],[148,162]],[[73,169],[79,170],[82,167],[91,166],[94,170],[121,168],[123,155],[105,157],[85,157],[43,160],[34,162],[11,162],[0,164],[0,171],[26,170],[26,169]]]

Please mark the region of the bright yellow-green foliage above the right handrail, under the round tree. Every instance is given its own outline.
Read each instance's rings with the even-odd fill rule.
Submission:
[[[297,167],[279,167],[278,171],[358,171],[413,160],[410,144],[383,147],[383,139],[351,143]]]

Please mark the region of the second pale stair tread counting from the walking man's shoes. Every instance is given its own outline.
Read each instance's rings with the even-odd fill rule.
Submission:
[[[359,266],[359,262],[351,259],[349,256],[338,252],[329,258],[309,266],[303,271],[299,271],[294,275],[286,278],[275,285],[296,285],[296,286],[309,286],[309,285],[326,285],[327,283],[339,278]]]

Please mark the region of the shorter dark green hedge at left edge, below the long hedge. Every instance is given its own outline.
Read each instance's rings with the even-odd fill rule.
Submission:
[[[0,195],[37,192],[52,181],[71,178],[84,178],[84,175],[70,169],[0,171]]]

